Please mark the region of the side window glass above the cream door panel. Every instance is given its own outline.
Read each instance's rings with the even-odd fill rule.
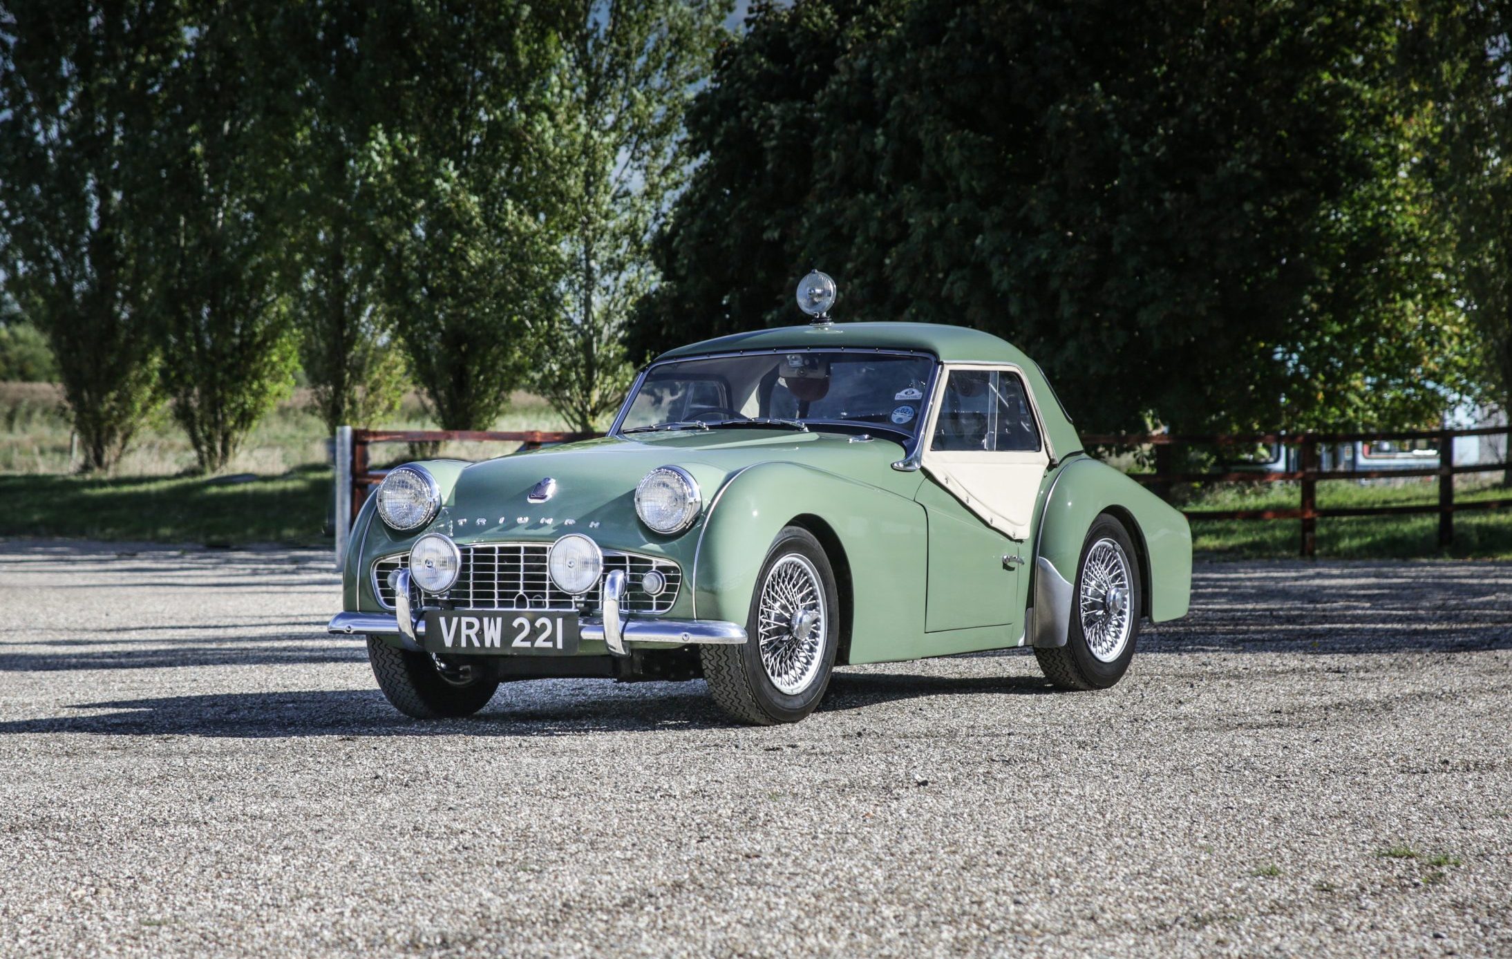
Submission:
[[[951,371],[930,449],[1034,452],[1039,448],[1039,428],[1018,375],[996,369]]]

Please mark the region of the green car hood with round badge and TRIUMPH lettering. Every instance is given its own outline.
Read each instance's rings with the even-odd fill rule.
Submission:
[[[658,535],[635,516],[635,487],[658,466],[688,470],[708,505],[729,475],[758,463],[800,463],[859,483],[888,486],[894,478],[906,480],[891,469],[901,455],[895,440],[853,442],[844,434],[791,430],[603,437],[467,466],[458,473],[432,528],[458,542],[585,532],[608,548],[661,552],[679,537]],[[555,495],[532,504],[531,490],[547,478],[556,481]]]

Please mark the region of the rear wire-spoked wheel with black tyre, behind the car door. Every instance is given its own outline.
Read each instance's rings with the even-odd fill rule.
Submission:
[[[1099,516],[1081,546],[1066,644],[1034,649],[1045,678],[1063,690],[1105,690],[1122,679],[1139,641],[1143,588],[1123,523]]]

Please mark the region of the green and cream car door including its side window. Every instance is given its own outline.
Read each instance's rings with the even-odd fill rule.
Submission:
[[[947,368],[922,442],[925,631],[1022,629],[1027,540],[1049,464],[1024,378],[1005,366]]]

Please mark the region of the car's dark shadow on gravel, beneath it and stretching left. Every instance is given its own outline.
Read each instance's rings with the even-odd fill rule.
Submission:
[[[838,673],[820,712],[838,712],[931,696],[1052,693],[1030,678],[943,678],[900,673]],[[198,735],[227,738],[302,737],[555,737],[587,732],[738,729],[709,700],[703,682],[611,684],[543,679],[499,688],[478,715],[417,722],[398,714],[378,690],[212,693],[80,703],[94,715],[0,722],[0,735],[83,732],[94,735]]]

